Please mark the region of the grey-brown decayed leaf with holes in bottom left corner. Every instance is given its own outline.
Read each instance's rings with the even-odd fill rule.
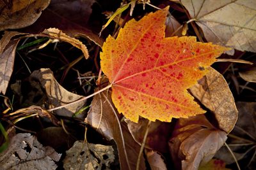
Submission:
[[[56,169],[61,154],[42,146],[31,134],[16,134],[7,150],[0,153],[0,169]]]

